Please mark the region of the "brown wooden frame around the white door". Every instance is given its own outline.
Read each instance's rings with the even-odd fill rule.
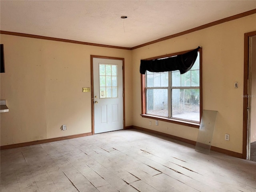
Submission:
[[[124,58],[118,57],[107,57],[107,56],[98,56],[91,55],[91,97],[92,97],[92,134],[94,135],[94,76],[93,76],[93,58],[99,59],[114,59],[114,60],[122,60],[122,76],[123,76],[123,129],[125,129],[125,92],[124,92]]]

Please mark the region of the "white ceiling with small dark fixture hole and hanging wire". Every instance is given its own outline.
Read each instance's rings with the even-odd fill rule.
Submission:
[[[253,9],[256,0],[1,0],[0,30],[131,48]]]

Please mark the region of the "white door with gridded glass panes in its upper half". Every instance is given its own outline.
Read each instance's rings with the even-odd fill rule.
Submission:
[[[93,58],[94,133],[123,129],[122,60]]]

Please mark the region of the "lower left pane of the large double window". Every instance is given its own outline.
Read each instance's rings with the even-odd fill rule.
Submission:
[[[168,117],[168,90],[146,90],[147,113]]]

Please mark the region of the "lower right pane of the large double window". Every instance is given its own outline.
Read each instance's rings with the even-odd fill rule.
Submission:
[[[172,117],[200,121],[199,89],[172,89]]]

